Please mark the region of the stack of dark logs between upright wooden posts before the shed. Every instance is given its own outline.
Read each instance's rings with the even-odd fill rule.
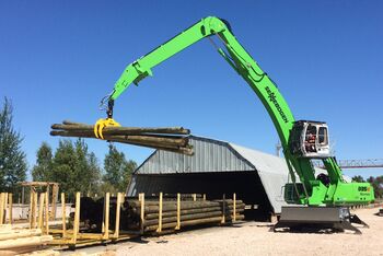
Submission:
[[[84,232],[100,231],[102,228],[104,199],[94,200],[89,197],[81,198],[80,221],[86,223],[82,226]],[[143,206],[143,219],[141,209]],[[234,210],[235,208],[235,210]],[[160,209],[159,199],[149,198],[143,200],[143,205],[137,198],[125,197],[120,208],[119,228],[126,232],[137,232],[149,234],[159,230],[161,219],[161,230],[174,230],[175,228],[194,226],[201,224],[231,223],[244,219],[245,203],[242,200],[181,200],[179,201],[179,225],[177,216],[178,203],[174,198],[163,198]],[[116,211],[116,199],[111,197],[109,214]],[[160,218],[161,214],[161,218]],[[114,218],[109,219],[109,226],[114,226]]]

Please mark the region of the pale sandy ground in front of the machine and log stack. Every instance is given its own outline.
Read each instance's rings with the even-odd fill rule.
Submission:
[[[265,222],[243,222],[160,237],[144,237],[104,249],[117,255],[382,255],[383,217],[378,208],[355,211],[370,229],[362,234],[274,233]]]

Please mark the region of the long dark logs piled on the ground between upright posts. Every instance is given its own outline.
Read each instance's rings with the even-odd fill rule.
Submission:
[[[111,198],[111,210],[115,211],[116,209],[116,201],[117,198]],[[142,199],[142,198],[141,198]],[[188,197],[188,199],[190,199]],[[204,200],[198,200],[198,201],[192,201],[192,200],[183,200],[179,201],[181,205],[181,211],[179,211],[179,219],[181,219],[181,226],[184,226],[185,222],[186,223],[194,223],[190,221],[197,221],[204,222],[205,219],[212,219],[212,218],[218,218],[219,221],[221,222],[222,219],[224,218],[230,222],[231,220],[235,219],[241,219],[242,218],[242,212],[245,209],[245,203],[243,203],[242,200],[236,200],[236,207],[235,207],[235,213],[236,217],[234,218],[234,206],[233,206],[233,200],[228,199],[224,201],[222,200],[214,200],[214,201],[204,201]],[[83,212],[83,216],[81,217],[81,221],[89,221],[90,226],[94,226],[93,229],[101,229],[102,226],[102,219],[98,219],[95,212],[97,212],[98,206],[103,206],[104,201],[103,200],[94,200],[92,198],[86,198],[84,200],[83,208],[89,209],[89,212]],[[125,231],[139,231],[142,228],[142,232],[144,233],[144,228],[149,226],[149,230],[152,228],[150,226],[155,226],[158,229],[159,226],[159,200],[153,198],[152,196],[146,198],[146,207],[144,207],[144,216],[143,216],[143,222],[141,221],[141,201],[137,199],[131,199],[129,197],[125,197],[124,199],[124,205],[121,206],[120,209],[120,214],[124,216],[121,217],[121,222],[120,222],[120,229]],[[162,221],[161,223],[165,225],[169,223],[174,223],[174,226],[177,224],[177,201],[174,200],[173,198],[165,198],[163,203],[163,211],[162,211]],[[224,207],[224,210],[223,210]],[[115,213],[112,212],[114,216]],[[116,223],[113,222],[113,219],[109,220],[111,225],[116,225]],[[198,223],[200,223],[198,222]],[[141,224],[143,223],[143,224]],[[205,223],[205,222],[204,222]],[[187,225],[187,224],[186,224]]]

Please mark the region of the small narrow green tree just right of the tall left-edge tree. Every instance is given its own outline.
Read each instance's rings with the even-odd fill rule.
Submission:
[[[53,181],[53,159],[51,148],[47,142],[43,142],[36,153],[36,164],[32,168],[33,181],[49,182]]]

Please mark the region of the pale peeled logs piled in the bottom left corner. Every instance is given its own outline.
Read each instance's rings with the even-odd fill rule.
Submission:
[[[40,251],[51,241],[53,236],[43,235],[40,229],[16,229],[12,228],[12,225],[0,226],[0,255],[16,255]],[[44,255],[56,255],[56,252],[53,251],[43,252]],[[47,252],[48,254],[46,254]]]

